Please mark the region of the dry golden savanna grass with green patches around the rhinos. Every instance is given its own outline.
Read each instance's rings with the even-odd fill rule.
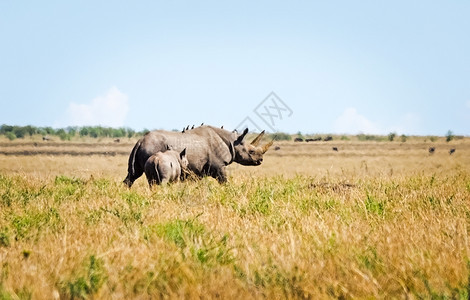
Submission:
[[[469,138],[279,142],[152,191],[134,142],[0,140],[0,299],[470,296]]]

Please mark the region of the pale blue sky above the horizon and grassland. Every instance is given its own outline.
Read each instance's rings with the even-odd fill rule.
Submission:
[[[469,15],[468,1],[2,1],[0,123],[470,135]]]

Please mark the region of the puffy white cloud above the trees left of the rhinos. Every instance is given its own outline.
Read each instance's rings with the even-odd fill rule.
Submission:
[[[71,102],[65,113],[65,121],[61,123],[75,126],[119,127],[124,125],[128,111],[127,95],[112,87],[104,96],[96,97],[90,103]]]

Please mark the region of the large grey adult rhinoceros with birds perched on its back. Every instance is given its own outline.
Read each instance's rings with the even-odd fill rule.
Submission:
[[[227,131],[213,126],[200,126],[184,132],[155,130],[147,133],[132,149],[129,166],[124,183],[131,187],[134,181],[144,172],[147,159],[168,147],[176,151],[186,148],[189,170],[195,175],[212,176],[219,182],[227,181],[225,167],[232,162],[245,166],[257,166],[263,161],[263,154],[273,144],[263,147],[259,142],[264,135],[261,132],[251,143],[244,138],[248,128],[242,134]]]

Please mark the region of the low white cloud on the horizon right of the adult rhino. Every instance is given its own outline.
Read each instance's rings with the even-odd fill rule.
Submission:
[[[355,108],[346,109],[334,122],[336,133],[368,133],[380,134],[377,124],[359,114]]]

